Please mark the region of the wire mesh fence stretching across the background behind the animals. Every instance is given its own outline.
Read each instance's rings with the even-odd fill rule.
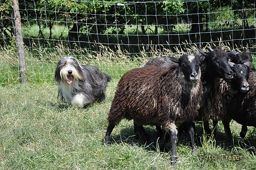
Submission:
[[[0,0],[1,84],[20,81],[14,14]],[[53,82],[72,55],[118,78],[147,59],[249,48],[255,56],[255,1],[19,1],[29,80]]]

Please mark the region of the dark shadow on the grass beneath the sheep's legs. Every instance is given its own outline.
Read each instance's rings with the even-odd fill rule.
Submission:
[[[157,136],[157,131],[154,126],[144,126],[146,132],[150,136],[150,144],[145,144],[141,138],[141,135],[136,135],[134,133],[133,126],[122,128],[118,135],[110,136],[110,143],[117,144],[130,144],[138,145],[139,147],[144,147],[147,151],[159,152],[159,146],[162,145],[163,139]],[[225,151],[234,151],[234,148],[242,148],[245,151],[250,152],[252,155],[256,155],[256,135],[255,132],[247,134],[245,139],[233,135],[233,141],[227,139],[225,132],[221,129],[217,129],[216,136],[206,136],[203,133],[202,125],[195,125],[195,144],[197,147],[202,147],[203,142],[212,143],[215,147],[222,148]],[[187,132],[182,131],[178,134],[178,145],[187,145],[191,148],[190,136]],[[165,144],[165,152],[171,151],[170,142]],[[160,151],[161,152],[161,151]]]

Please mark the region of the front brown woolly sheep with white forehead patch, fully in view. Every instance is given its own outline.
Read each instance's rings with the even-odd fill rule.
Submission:
[[[177,64],[169,68],[134,68],[119,80],[107,118],[106,144],[115,125],[122,119],[133,119],[135,127],[162,126],[171,137],[172,160],[177,161],[176,127],[186,122],[190,126],[191,143],[195,151],[191,122],[198,114],[202,94],[199,63],[203,58],[196,54],[182,55],[179,59],[169,58]],[[139,132],[143,136],[144,132]]]

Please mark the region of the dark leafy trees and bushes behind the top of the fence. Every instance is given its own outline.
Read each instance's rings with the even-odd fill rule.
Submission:
[[[0,43],[9,45],[10,42],[3,41],[3,38],[12,37],[13,33],[10,18],[11,1],[1,2]],[[137,50],[137,46],[133,47],[133,44],[149,45],[166,42],[181,44],[180,40],[183,39],[183,42],[194,43],[201,42],[199,37],[207,38],[206,42],[216,42],[220,35],[201,36],[203,33],[207,34],[209,30],[222,31],[237,27],[239,30],[247,28],[246,31],[250,32],[248,28],[254,27],[254,21],[250,19],[254,18],[254,10],[251,10],[254,9],[254,3],[249,0],[243,2],[246,3],[215,0],[139,2],[27,0],[19,1],[19,8],[23,30],[27,33],[26,46],[31,47],[31,41],[34,39],[38,39],[43,47],[55,46],[59,41],[67,42],[67,46],[70,47],[74,47],[74,44],[79,42],[81,47],[87,48],[91,48],[91,44],[99,43],[107,43],[113,47],[112,44],[122,42],[131,46],[127,47],[131,52]],[[37,31],[37,34],[30,34],[33,30]],[[179,33],[187,35],[183,36]],[[233,34],[239,34],[234,36],[234,39],[239,39],[238,36],[241,34],[251,35],[251,33],[238,32]],[[133,38],[133,35],[138,36]],[[221,34],[222,37],[230,40],[229,35],[230,33]],[[216,39],[213,39],[215,37]],[[50,41],[46,42],[45,39]],[[140,50],[139,48],[138,51]]]

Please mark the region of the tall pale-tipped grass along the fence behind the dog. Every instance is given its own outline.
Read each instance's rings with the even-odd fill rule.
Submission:
[[[26,51],[27,76],[30,83],[54,83],[54,72],[59,59],[65,56],[75,56],[81,64],[93,65],[103,72],[110,74],[114,80],[131,70],[137,68],[147,59],[170,54],[171,51],[164,49],[163,52],[152,49],[151,54],[141,52],[141,56],[136,55],[131,58],[127,56],[127,51],[123,52],[121,47],[114,51],[109,47],[99,46],[101,53],[90,53],[86,48],[70,50],[63,44],[58,44],[54,50],[38,46],[35,42],[30,51]],[[17,84],[21,82],[19,78],[18,54],[13,48],[2,47],[0,49],[0,86],[7,84]],[[149,56],[150,55],[150,56]]]

